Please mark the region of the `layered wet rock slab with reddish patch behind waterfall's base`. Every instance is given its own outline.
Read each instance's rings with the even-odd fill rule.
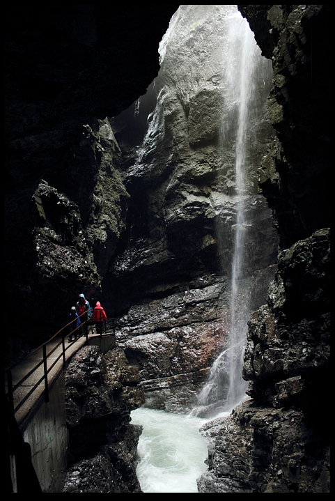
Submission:
[[[274,270],[245,279],[255,307]],[[169,412],[192,410],[208,371],[227,348],[231,283],[215,275],[189,282],[189,290],[132,306],[118,320],[116,337],[139,368],[146,406]]]

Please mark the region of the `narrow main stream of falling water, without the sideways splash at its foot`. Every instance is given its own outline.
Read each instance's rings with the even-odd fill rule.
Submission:
[[[242,379],[242,363],[246,344],[246,326],[249,317],[247,298],[240,299],[240,288],[246,259],[246,240],[249,229],[245,212],[247,186],[247,132],[250,128],[251,106],[254,94],[254,71],[260,59],[260,50],[254,40],[254,34],[247,20],[240,15],[231,17],[229,40],[233,41],[229,56],[237,56],[235,61],[226,65],[228,85],[227,101],[230,106],[238,102],[237,138],[235,149],[235,184],[237,194],[237,216],[235,224],[234,253],[231,270],[231,325],[228,355],[228,396],[226,408],[232,408],[242,400],[247,383]],[[239,61],[239,64],[236,64]],[[234,63],[234,64],[232,64]],[[225,131],[224,131],[225,132]],[[227,131],[228,132],[228,131]],[[223,138],[225,140],[225,137]]]

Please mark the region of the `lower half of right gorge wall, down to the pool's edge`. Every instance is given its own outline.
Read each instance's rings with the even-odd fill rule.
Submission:
[[[329,492],[329,265],[328,229],[279,254],[267,305],[249,320],[251,400],[203,426],[199,492]]]

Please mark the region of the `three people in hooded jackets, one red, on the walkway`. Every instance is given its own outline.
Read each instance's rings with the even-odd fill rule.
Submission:
[[[95,324],[96,332],[102,334],[102,325],[107,320],[107,315],[100,305],[100,301],[95,300],[95,307],[91,307],[84,294],[79,294],[76,306],[72,306],[70,311],[70,336],[69,342],[72,341],[72,334],[77,339],[77,334],[82,334],[85,329],[85,322],[91,321]]]

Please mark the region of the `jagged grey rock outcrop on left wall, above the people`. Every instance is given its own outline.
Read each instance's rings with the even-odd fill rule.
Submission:
[[[118,173],[120,152],[107,119],[83,125],[73,150],[66,178],[46,176],[48,181],[42,179],[33,194],[36,263],[31,288],[39,286],[34,301],[47,295],[51,279],[55,289],[72,298],[78,287],[85,293],[99,290],[125,230],[129,195]],[[86,162],[91,162],[91,172]],[[48,321],[56,322],[57,316],[52,311]]]

